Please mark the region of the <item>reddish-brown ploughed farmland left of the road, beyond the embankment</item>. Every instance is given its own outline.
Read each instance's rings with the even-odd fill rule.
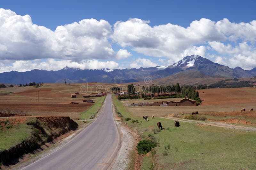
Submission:
[[[107,85],[104,84],[102,87],[104,88]],[[81,112],[93,105],[93,103],[83,103],[84,94],[79,91],[81,86],[84,86],[84,83],[72,85],[45,83],[44,86],[37,89],[32,86],[3,88],[0,89],[0,109],[24,110],[32,116],[70,116],[77,119],[80,117]],[[97,83],[89,83],[88,87],[91,87],[92,94],[96,94],[99,90],[96,88]],[[38,98],[36,99],[38,91],[39,102]],[[71,98],[70,94],[75,92],[79,92],[80,95],[77,95],[77,98]],[[90,97],[96,103],[100,98]],[[79,104],[70,104],[71,102]]]

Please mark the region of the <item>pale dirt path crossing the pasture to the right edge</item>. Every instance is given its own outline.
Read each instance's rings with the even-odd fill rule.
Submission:
[[[225,124],[225,123],[220,123],[220,122],[203,122],[203,121],[198,121],[198,120],[188,120],[188,119],[181,119],[181,118],[176,118],[176,117],[160,117],[160,118],[177,120],[180,122],[189,122],[189,123],[193,122],[193,123],[199,123],[199,124],[205,124],[205,125],[211,125],[211,126],[217,126],[217,127],[223,127],[223,128],[230,128],[230,129],[240,129],[240,130],[244,130],[244,131],[256,131],[255,127],[237,126],[237,125]]]

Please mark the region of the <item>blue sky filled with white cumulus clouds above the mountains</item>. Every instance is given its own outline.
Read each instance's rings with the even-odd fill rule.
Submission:
[[[19,42],[1,42],[0,40],[0,60],[2,60],[2,69],[0,72],[18,70],[20,66],[27,64],[27,69],[34,69],[35,67],[42,69],[57,69],[63,66],[64,63],[68,63],[70,67],[80,68],[94,68],[91,67],[93,63],[99,64],[99,67],[95,68],[127,68],[127,67],[150,67],[156,65],[169,65],[177,60],[182,59],[186,54],[200,54],[203,57],[207,57],[212,61],[219,62],[220,64],[228,65],[229,67],[242,67],[244,69],[251,69],[256,67],[252,64],[255,61],[255,25],[252,22],[255,20],[255,6],[256,1],[1,1],[0,8],[4,10],[10,9],[15,12],[16,15],[25,16],[29,15],[32,20],[32,26],[20,26],[14,25],[8,29],[13,32],[18,32],[21,35]],[[3,13],[7,13],[4,11]],[[9,13],[8,13],[9,15]],[[9,18],[14,14],[10,14]],[[6,19],[6,16],[0,16]],[[50,49],[47,38],[53,36],[55,29],[60,25],[68,25],[74,22],[79,22],[84,19],[96,19],[99,23],[95,24],[90,21],[84,23],[86,33],[79,35],[88,40],[91,44],[97,44],[91,48],[101,48],[100,50],[81,51],[84,46],[79,47],[77,44],[81,44],[80,41],[61,44],[54,49]],[[131,19],[130,19],[131,18]],[[132,20],[132,18],[138,18],[139,20]],[[204,20],[202,18],[207,18]],[[228,20],[224,20],[227,18]],[[16,18],[17,19],[17,18]],[[104,20],[106,23],[100,23],[100,20]],[[9,22],[9,20],[7,20]],[[5,22],[7,22],[5,20]],[[114,28],[116,22],[117,27]],[[148,22],[150,21],[150,22]],[[196,21],[200,21],[196,23]],[[218,21],[220,22],[219,24]],[[15,22],[15,21],[13,21]],[[12,22],[12,24],[13,24]],[[17,19],[16,23],[20,20]],[[23,22],[23,21],[22,21]],[[24,21],[29,22],[27,20]],[[239,23],[245,23],[239,24]],[[1,22],[0,22],[1,23]],[[168,25],[168,23],[171,24]],[[191,26],[194,23],[194,26]],[[213,23],[213,25],[212,25]],[[224,23],[224,24],[223,24]],[[247,26],[246,26],[247,23]],[[214,25],[215,24],[215,25]],[[248,26],[249,24],[249,26]],[[40,39],[31,39],[31,37],[38,36],[35,33],[33,25],[44,26],[52,30],[52,32],[46,31],[49,36]],[[82,24],[80,24],[82,25]],[[99,26],[100,25],[100,26]],[[159,28],[159,25],[162,25]],[[174,28],[177,25],[179,28]],[[210,25],[210,26],[209,26]],[[75,25],[76,26],[76,25]],[[70,25],[70,27],[75,27]],[[110,26],[110,29],[109,29]],[[126,30],[130,26],[130,30]],[[154,27],[156,26],[156,27]],[[208,28],[211,27],[211,28]],[[20,27],[20,28],[17,28]],[[91,30],[89,30],[89,27]],[[108,35],[103,37],[97,37],[99,32],[93,32],[95,28],[101,28],[102,30],[108,30]],[[166,28],[168,27],[168,28]],[[191,27],[191,29],[188,29]],[[213,28],[214,27],[214,28]],[[228,27],[234,28],[229,31]],[[134,30],[131,30],[134,28]],[[196,30],[201,28],[200,31]],[[15,30],[18,29],[18,30]],[[24,29],[28,29],[24,32]],[[41,28],[39,28],[40,30]],[[81,29],[81,28],[79,28]],[[184,30],[187,29],[187,30]],[[250,29],[248,31],[248,29]],[[1,33],[4,34],[4,28],[0,27]],[[101,31],[102,31],[101,30]],[[195,31],[196,30],[196,31]],[[215,32],[217,30],[217,32]],[[244,31],[247,30],[248,32]],[[99,30],[98,30],[99,31]],[[137,32],[135,32],[137,31]],[[42,32],[42,30],[41,30]],[[68,30],[68,34],[74,35],[74,32]],[[90,35],[87,33],[89,32]],[[104,31],[102,31],[104,32]],[[102,33],[101,32],[101,33]],[[117,33],[116,33],[117,32]],[[121,34],[120,32],[123,32]],[[181,32],[180,35],[177,35]],[[196,32],[196,33],[195,33]],[[203,33],[202,33],[203,32]],[[221,35],[219,33],[221,32]],[[18,34],[17,33],[17,34]],[[142,35],[145,33],[145,35]],[[187,34],[183,35],[182,34]],[[86,35],[85,35],[86,34]],[[91,35],[96,36],[92,37]],[[103,33],[104,34],[104,33]],[[194,35],[195,34],[195,35]],[[54,34],[55,35],[55,34]],[[128,35],[130,37],[128,37]],[[136,36],[134,40],[133,35]],[[191,38],[190,35],[193,35]],[[40,36],[42,36],[40,34]],[[38,36],[38,37],[40,37]],[[55,35],[56,36],[56,35]],[[59,34],[58,34],[59,36]],[[60,36],[67,36],[66,34]],[[84,37],[83,37],[84,36]],[[88,37],[92,39],[88,39]],[[161,37],[162,39],[160,39]],[[173,38],[175,37],[175,38]],[[196,39],[195,37],[199,37]],[[212,38],[213,37],[213,38]],[[0,37],[2,38],[2,37]],[[12,39],[13,37],[3,37],[3,39]],[[16,37],[17,38],[17,37]],[[40,37],[41,38],[41,37]],[[59,38],[57,37],[59,42]],[[73,37],[74,38],[74,37]],[[189,39],[191,38],[191,39]],[[29,39],[28,44],[24,44],[25,40]],[[105,40],[108,39],[106,42]],[[180,39],[183,41],[180,43]],[[185,42],[184,39],[188,39]],[[68,41],[72,42],[71,38]],[[75,41],[73,39],[73,41]],[[170,42],[173,41],[173,42]],[[152,43],[150,43],[152,42]],[[182,46],[182,44],[185,44]],[[2,43],[2,53],[1,53]],[[20,44],[19,44],[20,43]],[[31,44],[33,43],[33,44]],[[48,43],[48,44],[47,44]],[[168,44],[169,43],[169,44]],[[7,45],[6,45],[7,44]],[[156,46],[156,44],[158,46]],[[176,46],[177,45],[177,46]],[[23,47],[20,50],[14,48],[15,46]],[[30,46],[31,49],[29,48]],[[40,48],[37,51],[35,48]],[[75,46],[75,47],[73,47]],[[72,48],[71,48],[72,47]],[[13,49],[15,50],[13,50]],[[24,48],[28,48],[28,52],[24,52]],[[62,48],[62,49],[60,49]],[[106,48],[109,48],[106,50]],[[168,48],[172,49],[169,50]],[[50,49],[50,50],[49,50]],[[120,56],[117,52],[120,51]],[[5,51],[4,51],[5,50]],[[52,50],[52,52],[51,52]],[[125,51],[122,51],[125,50]],[[15,51],[15,52],[13,52]],[[45,53],[45,51],[50,51]],[[64,51],[64,52],[63,52]],[[76,52],[74,52],[76,51]],[[79,53],[77,53],[79,51]],[[242,53],[246,51],[246,53]],[[121,55],[121,52],[123,55]],[[7,55],[8,53],[8,55]],[[22,55],[21,55],[21,54]],[[183,55],[184,54],[184,55]],[[239,55],[240,54],[240,55]],[[26,55],[26,56],[25,56]],[[31,55],[31,56],[30,56]],[[118,60],[117,60],[118,58]],[[138,59],[139,58],[139,59]],[[50,59],[53,59],[49,61]],[[241,60],[240,60],[241,59]],[[60,64],[55,61],[63,60]],[[92,62],[93,60],[93,62]],[[137,62],[134,62],[134,61]],[[107,63],[107,61],[109,61]],[[113,62],[110,62],[113,61]],[[236,62],[237,61],[237,62]],[[53,65],[47,68],[45,65]],[[100,63],[99,63],[100,62]],[[133,62],[133,63],[132,63]],[[241,62],[244,64],[242,65]],[[22,64],[21,64],[22,63]],[[239,64],[240,63],[240,64]],[[54,67],[58,65],[58,67]],[[82,66],[83,65],[83,66]]]

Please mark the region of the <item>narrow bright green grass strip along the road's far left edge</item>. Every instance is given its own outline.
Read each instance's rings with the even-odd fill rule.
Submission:
[[[80,119],[90,118],[91,113],[96,114],[99,111],[100,106],[102,106],[102,103],[104,102],[105,98],[106,96],[98,97],[99,100],[97,102],[95,102],[88,110],[85,110],[80,114]]]

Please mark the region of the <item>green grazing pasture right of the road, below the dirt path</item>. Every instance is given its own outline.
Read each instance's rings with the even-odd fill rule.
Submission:
[[[158,141],[155,158],[152,154],[145,156],[141,169],[256,169],[253,132],[185,122],[174,128],[174,120],[157,117],[144,122],[142,117],[132,116],[136,113],[130,114],[115,98],[114,102],[122,115],[132,118],[126,123],[138,131],[141,139],[151,136]],[[139,123],[132,123],[133,119]],[[161,122],[164,130],[154,132],[157,122]]]

